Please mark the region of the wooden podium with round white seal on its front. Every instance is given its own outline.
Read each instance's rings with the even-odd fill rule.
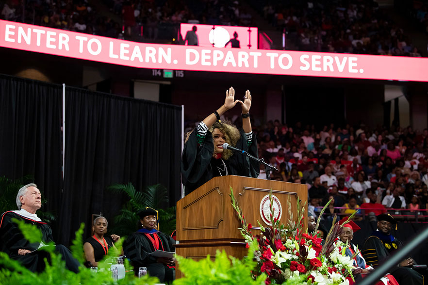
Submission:
[[[301,206],[308,200],[308,188],[302,184],[235,175],[214,177],[177,202],[178,255],[196,260],[206,258],[207,254],[214,257],[216,250],[225,250],[228,255],[240,258],[246,255],[244,238],[238,230],[241,222],[230,204],[230,187],[245,219],[253,225],[253,234],[260,233],[257,221],[268,226],[263,222],[261,207],[266,211],[269,206],[266,196],[271,189],[281,206],[277,205],[275,213],[280,214],[284,224],[288,219],[287,200],[290,198],[293,213],[297,212],[297,199]],[[294,219],[297,219],[296,214]],[[304,222],[306,225],[307,212]]]

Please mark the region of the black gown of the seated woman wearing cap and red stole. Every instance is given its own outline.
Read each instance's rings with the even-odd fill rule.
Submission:
[[[175,251],[175,240],[162,232],[157,232],[160,238],[159,250],[165,252]],[[153,237],[154,234],[150,234]],[[173,281],[174,269],[169,268],[163,263],[157,263],[156,257],[148,253],[155,252],[156,249],[150,239],[144,233],[135,232],[129,236],[123,243],[123,253],[131,260],[134,272],[137,275],[140,267],[147,267],[150,276],[159,278],[160,283]]]

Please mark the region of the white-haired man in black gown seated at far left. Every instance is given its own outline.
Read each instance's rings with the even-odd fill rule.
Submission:
[[[45,269],[44,258],[49,260],[49,253],[40,248],[53,242],[52,230],[46,222],[37,217],[36,211],[42,206],[42,196],[35,184],[27,184],[19,189],[16,195],[16,206],[18,210],[7,211],[1,215],[0,220],[0,251],[5,252],[10,258],[19,261],[23,266],[33,272]],[[30,243],[21,233],[18,225],[12,221],[17,219],[32,224],[42,233],[40,243]],[[79,271],[79,262],[73,258],[71,252],[63,245],[56,245],[55,251],[60,253],[66,261],[66,268]]]

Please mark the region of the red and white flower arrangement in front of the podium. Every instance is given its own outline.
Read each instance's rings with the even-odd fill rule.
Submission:
[[[319,234],[308,234],[303,231],[303,216],[306,204],[300,207],[297,203],[297,222],[293,219],[291,202],[288,201],[289,219],[287,224],[280,224],[277,219],[272,219],[271,226],[263,227],[259,222],[261,235],[252,235],[251,223],[247,223],[242,211],[233,196],[230,198],[233,208],[236,210],[242,228],[239,230],[245,238],[247,245],[257,240],[258,248],[254,253],[257,261],[256,268],[252,271],[254,277],[263,272],[267,274],[265,284],[315,284],[315,285],[349,285],[353,280],[353,274],[358,274],[360,269],[353,266],[352,257],[345,255],[346,244],[337,239],[343,226],[333,224],[329,234],[322,244]],[[272,195],[270,199],[270,212],[272,207]],[[324,209],[328,206],[327,204]],[[321,212],[320,217],[322,216]],[[351,217],[348,219],[348,221]],[[318,219],[314,233],[317,233],[320,219]]]

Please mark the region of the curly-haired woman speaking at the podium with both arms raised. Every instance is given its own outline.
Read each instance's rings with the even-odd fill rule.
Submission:
[[[238,102],[242,108],[241,130],[229,122],[220,121],[220,116]],[[181,159],[181,177],[186,195],[216,176],[259,175],[258,162],[241,154],[234,154],[229,149],[223,149],[223,143],[228,143],[254,157],[259,157],[256,136],[251,130],[250,107],[250,92],[248,90],[245,92],[244,101],[235,100],[235,90],[230,87],[226,91],[223,106],[200,122],[195,130],[187,133]]]

